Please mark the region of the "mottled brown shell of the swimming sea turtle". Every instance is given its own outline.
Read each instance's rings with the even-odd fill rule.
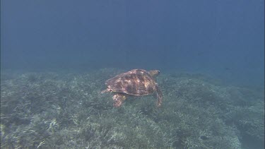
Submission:
[[[110,78],[106,85],[112,92],[149,95],[155,91],[156,83],[147,71],[134,69]]]

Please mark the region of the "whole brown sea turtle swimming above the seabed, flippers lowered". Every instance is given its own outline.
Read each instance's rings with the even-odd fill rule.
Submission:
[[[146,71],[143,69],[134,69],[126,73],[121,73],[114,78],[110,78],[105,82],[106,90],[101,93],[114,93],[112,99],[114,107],[120,107],[126,99],[126,95],[151,95],[156,92],[158,101],[156,105],[160,107],[163,97],[162,92],[155,83],[155,76],[158,76],[160,71]]]

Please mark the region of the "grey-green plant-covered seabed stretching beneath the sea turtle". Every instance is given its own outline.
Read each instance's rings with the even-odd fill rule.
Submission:
[[[100,94],[117,68],[1,72],[1,148],[264,148],[264,90],[163,73],[119,108]]]

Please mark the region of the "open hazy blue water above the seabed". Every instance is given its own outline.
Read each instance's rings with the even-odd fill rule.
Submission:
[[[159,68],[264,85],[264,1],[1,1],[1,68]]]

